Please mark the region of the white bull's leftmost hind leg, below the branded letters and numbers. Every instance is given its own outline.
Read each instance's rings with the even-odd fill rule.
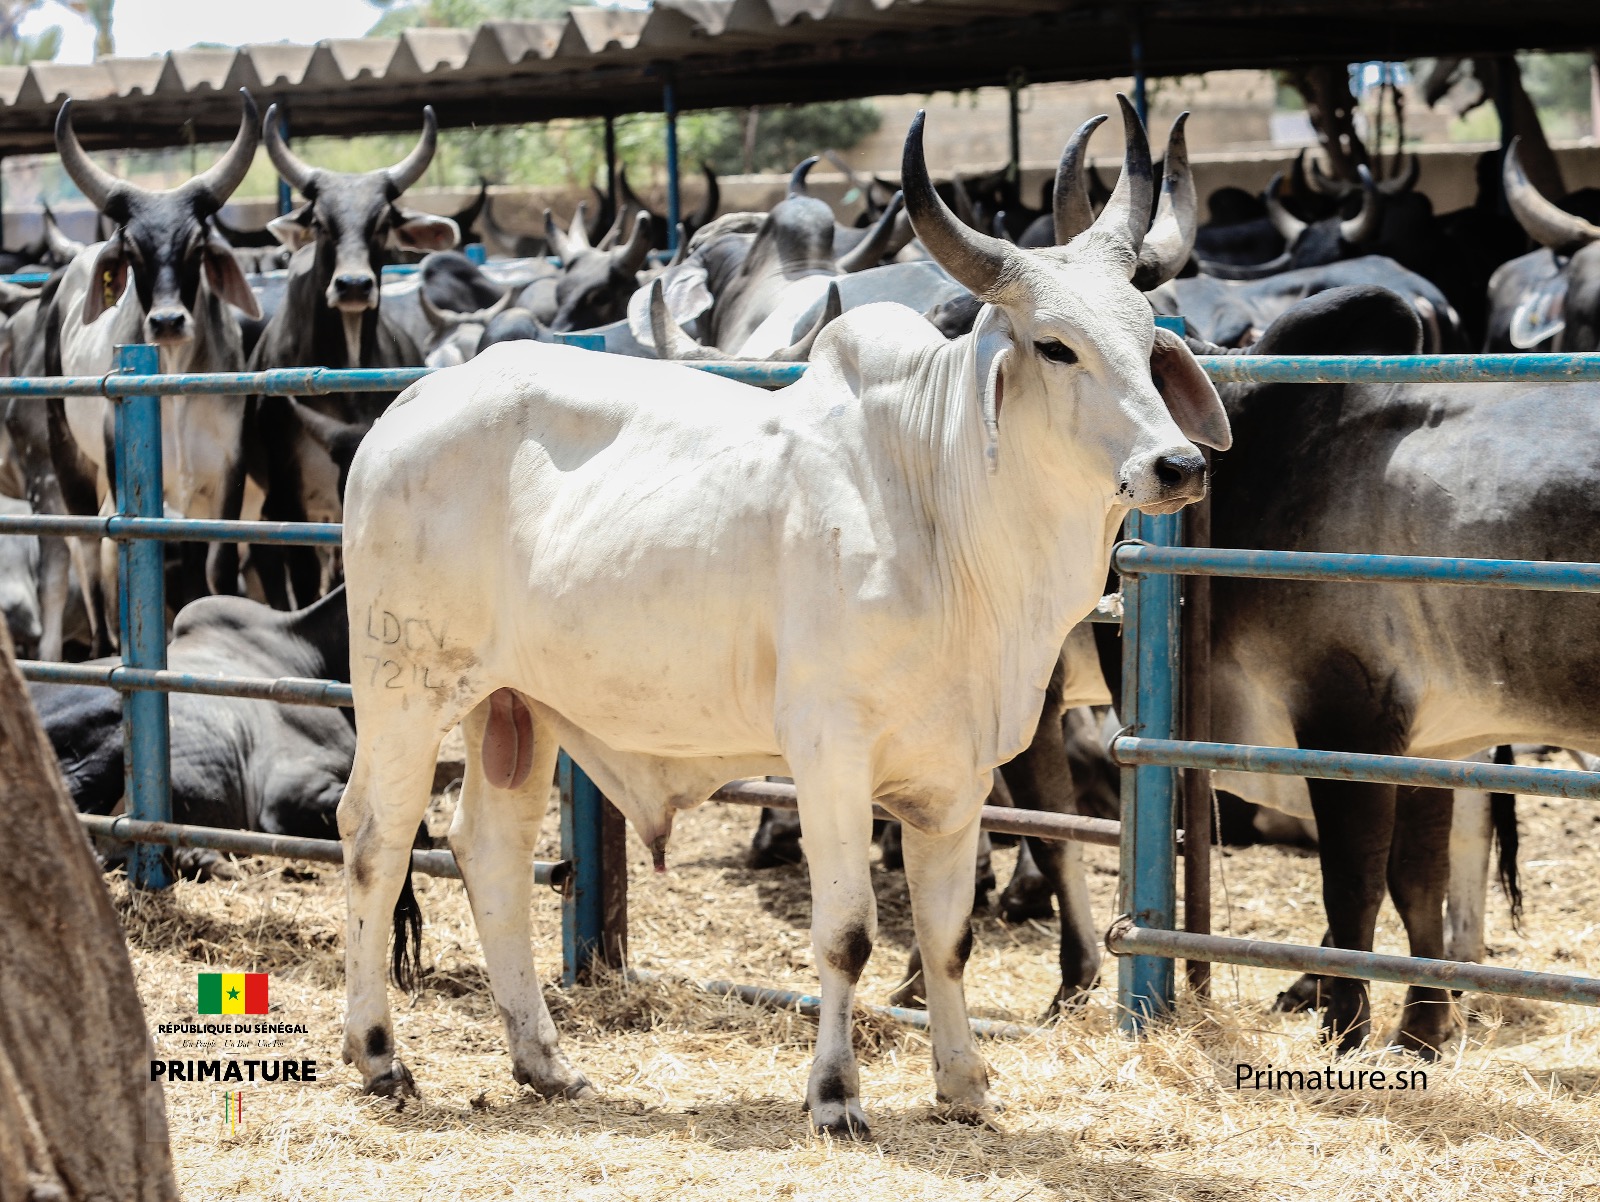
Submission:
[[[395,899],[411,866],[411,842],[427,811],[440,736],[403,714],[363,714],[355,767],[339,799],[344,843],[344,1063],[366,1093],[416,1093],[395,1056],[384,960]],[[389,723],[384,719],[390,719]]]

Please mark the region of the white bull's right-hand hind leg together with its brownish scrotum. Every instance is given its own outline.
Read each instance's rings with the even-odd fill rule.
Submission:
[[[550,803],[555,735],[509,688],[480,703],[461,725],[467,773],[450,847],[461,864],[490,988],[506,1021],[512,1076],[546,1098],[594,1096],[584,1074],[557,1045],[533,967],[533,848]]]

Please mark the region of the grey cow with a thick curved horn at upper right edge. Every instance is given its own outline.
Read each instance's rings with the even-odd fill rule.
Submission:
[[[1600,349],[1600,226],[1566,213],[1528,181],[1518,142],[1506,155],[1506,200],[1541,250],[1490,278],[1485,351]]]

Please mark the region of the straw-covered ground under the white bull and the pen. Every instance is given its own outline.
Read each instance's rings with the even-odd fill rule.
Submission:
[[[448,799],[445,799],[448,807]],[[1509,930],[1491,896],[1491,962],[1600,975],[1600,816],[1522,800],[1528,917]],[[442,821],[443,815],[435,815]],[[1274,1015],[1283,973],[1219,968],[1216,1002],[1186,1002],[1142,1042],[1115,1031],[1102,989],[1077,1016],[1016,1042],[984,1042],[1006,1111],[994,1127],[941,1120],[926,1042],[872,1016],[858,1023],[875,1141],[806,1133],[800,1112],[814,1026],[699,992],[731,978],[814,989],[800,869],[754,874],[755,823],[707,807],[678,824],[672,871],[634,847],[632,959],[682,983],[547,986],[565,1047],[603,1100],[550,1104],[510,1079],[459,882],[418,879],[429,975],[394,996],[397,1036],[422,1090],[397,1108],[363,1098],[339,1063],[341,906],[336,869],[246,861],[242,880],[142,896],[120,877],[122,914],[152,1029],[194,1018],[195,972],[269,972],[272,1021],[304,1036],[250,1052],[194,1050],[157,1034],[160,1055],[317,1060],[314,1085],[246,1087],[224,1122],[222,1087],[166,1088],[187,1197],[240,1199],[1555,1199],[1600,1191],[1600,1015],[1578,1007],[1466,999],[1467,1037],[1406,1092],[1240,1090],[1237,1064],[1330,1064],[1315,1020]],[[554,821],[552,821],[554,824]],[[554,853],[554,831],[546,855]],[[1110,916],[1115,855],[1088,848],[1096,917]],[[1013,853],[1000,853],[1002,872]],[[1259,847],[1221,856],[1218,928],[1314,943],[1315,858]],[[1005,877],[1002,875],[1002,880]],[[882,1000],[909,946],[904,880],[878,871],[882,935],[862,984]],[[534,901],[538,964],[558,973],[557,898]],[[1386,908],[1379,948],[1403,951]],[[1046,925],[976,924],[968,970],[976,1015],[1032,1021],[1054,989]],[[1106,980],[1114,983],[1115,967]],[[1398,986],[1376,986],[1384,1024]],[[216,1021],[216,1020],[211,1020]],[[235,1020],[237,1021],[237,1020]],[[192,1037],[189,1037],[192,1039]],[[213,1040],[214,1044],[214,1040]],[[1341,1068],[1416,1068],[1370,1050]],[[1414,1085],[1414,1082],[1413,1082]]]

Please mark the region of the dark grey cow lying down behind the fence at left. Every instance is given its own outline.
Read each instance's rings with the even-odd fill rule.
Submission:
[[[179,672],[349,682],[344,589],[293,613],[243,597],[200,599],[178,615],[166,661]],[[110,813],[123,795],[120,696],[29,690],[72,800],[83,813]],[[349,711],[174,693],[171,747],[174,821],[338,839],[334,810],[355,754]]]

